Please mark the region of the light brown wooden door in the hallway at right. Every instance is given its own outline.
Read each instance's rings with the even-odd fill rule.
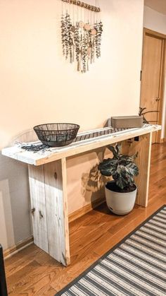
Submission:
[[[141,72],[141,108],[146,108],[146,120],[150,124],[161,124],[162,113],[162,69],[165,40],[145,31]],[[153,133],[153,143],[160,135]]]

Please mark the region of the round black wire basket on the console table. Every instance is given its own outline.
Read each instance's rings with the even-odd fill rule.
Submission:
[[[39,140],[46,146],[67,146],[76,138],[78,124],[41,124],[34,126]]]

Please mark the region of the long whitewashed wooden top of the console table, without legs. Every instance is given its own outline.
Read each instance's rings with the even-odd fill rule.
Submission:
[[[49,148],[44,152],[34,153],[32,151],[24,150],[19,146],[12,146],[2,149],[2,155],[6,155],[9,158],[20,160],[30,165],[44,165],[48,162],[53,162],[62,158],[68,158],[72,155],[101,148],[103,146],[109,146],[110,144],[125,141],[128,138],[134,138],[144,134],[149,134],[153,131],[159,131],[161,126],[159,125],[148,125],[138,129],[127,129],[125,131],[118,131],[113,134],[101,136],[98,138],[91,138],[89,141],[80,141],[70,144],[69,146],[60,148]],[[79,134],[78,134],[79,135]]]

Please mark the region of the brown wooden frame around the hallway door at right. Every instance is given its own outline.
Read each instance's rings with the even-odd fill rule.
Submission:
[[[162,40],[162,62],[160,68],[160,86],[159,86],[159,113],[158,113],[158,124],[162,124],[162,107],[164,100],[164,88],[165,88],[165,72],[166,72],[166,35],[160,32],[156,32],[147,28],[143,28],[143,50],[144,50],[144,40],[145,36],[151,36]],[[142,62],[141,62],[141,71],[143,68],[143,51],[142,51]],[[166,100],[166,98],[165,98]],[[140,93],[140,105],[141,105],[141,93]],[[161,131],[157,132],[157,143],[163,143],[165,138],[161,138]]]

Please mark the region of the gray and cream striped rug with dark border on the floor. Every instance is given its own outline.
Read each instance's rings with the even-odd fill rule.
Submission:
[[[56,296],[166,295],[166,205]]]

